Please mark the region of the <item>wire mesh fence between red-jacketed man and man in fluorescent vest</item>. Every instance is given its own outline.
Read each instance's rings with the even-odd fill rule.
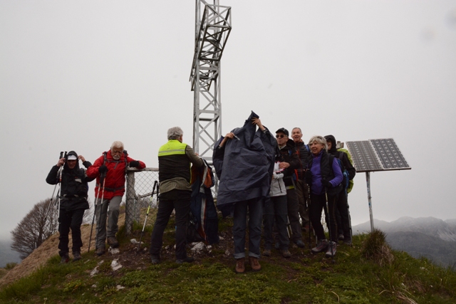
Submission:
[[[157,190],[152,194],[155,181],[158,182],[158,168],[128,169],[125,195],[126,234],[132,233],[134,221],[140,221],[142,208],[147,208],[149,204],[153,208],[157,206]]]

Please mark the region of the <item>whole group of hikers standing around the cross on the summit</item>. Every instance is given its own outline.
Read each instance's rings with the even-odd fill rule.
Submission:
[[[154,264],[161,261],[162,237],[172,211],[175,211],[176,263],[194,261],[186,251],[192,194],[190,167],[201,168],[207,164],[182,137],[180,127],[170,128],[167,143],[158,151],[160,196],[150,241],[150,258]],[[284,258],[289,258],[290,240],[299,248],[305,246],[302,231],[314,231],[318,242],[312,253],[326,252],[327,257],[333,257],[339,240],[351,245],[347,195],[353,187],[356,170],[349,153],[336,149],[333,135],[313,136],[308,145],[301,137],[299,127],[291,130],[291,138],[284,127],[276,130],[274,137],[252,112],[242,127],[235,128],[214,145],[212,160],[219,180],[217,209],[223,216],[233,216],[237,273],[246,271],[247,226],[252,271],[261,270],[261,235],[263,256],[271,256],[274,246]],[[78,159],[86,169],[79,167]],[[128,157],[122,142],[113,142],[110,150],[103,152],[93,165],[71,151],[53,166],[46,182],[61,183],[58,216],[61,263],[69,261],[69,229],[73,237],[73,261],[81,259],[81,224],[83,213],[89,208],[88,182],[95,178],[95,201],[100,201],[95,205],[95,253],[98,256],[105,253],[106,239],[109,246],[119,246],[115,234],[127,167],[143,169],[145,164]],[[322,210],[326,214],[329,239],[321,224]]]

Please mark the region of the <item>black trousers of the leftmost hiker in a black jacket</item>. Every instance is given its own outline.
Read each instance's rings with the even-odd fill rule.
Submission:
[[[63,256],[68,254],[68,234],[71,229],[71,237],[73,238],[73,252],[80,251],[83,246],[81,240],[81,224],[83,223],[84,209],[76,209],[66,211],[60,209],[58,216],[58,254]]]

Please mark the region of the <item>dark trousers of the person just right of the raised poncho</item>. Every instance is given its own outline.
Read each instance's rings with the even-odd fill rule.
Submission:
[[[272,226],[276,221],[277,234],[279,235],[279,243],[281,250],[287,250],[290,244],[288,233],[286,232],[286,195],[272,196],[266,199],[264,204],[264,249],[271,249],[272,242]]]

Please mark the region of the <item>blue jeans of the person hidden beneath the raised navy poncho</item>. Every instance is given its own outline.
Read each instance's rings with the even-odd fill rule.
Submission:
[[[263,202],[264,198],[255,198],[247,201],[237,201],[236,204],[234,204],[234,258],[245,258],[247,209],[249,209],[249,256],[259,258]]]

